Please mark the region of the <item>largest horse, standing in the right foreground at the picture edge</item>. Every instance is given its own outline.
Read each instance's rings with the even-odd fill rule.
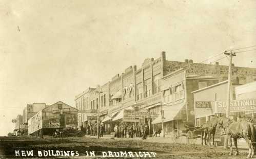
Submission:
[[[220,127],[224,128],[227,135],[227,139],[229,140],[229,143],[230,143],[229,155],[233,155],[232,138],[234,140],[234,146],[236,149],[235,155],[239,155],[238,138],[244,138],[248,145],[247,158],[254,157],[254,145],[252,144],[252,142],[254,142],[255,128],[251,122],[248,122],[248,121],[235,122],[226,117],[220,117],[218,123]]]

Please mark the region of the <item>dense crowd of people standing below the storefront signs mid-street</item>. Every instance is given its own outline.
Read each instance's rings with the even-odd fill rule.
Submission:
[[[121,123],[114,126],[115,138],[134,138],[140,137],[147,139],[149,127],[146,124]]]

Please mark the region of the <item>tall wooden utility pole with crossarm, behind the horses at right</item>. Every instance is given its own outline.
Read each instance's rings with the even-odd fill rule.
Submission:
[[[232,76],[232,57],[237,56],[235,53],[230,51],[230,53],[227,53],[227,51],[224,52],[225,55],[229,55],[229,66],[228,66],[228,93],[227,93],[227,107],[226,107],[226,117],[229,119],[229,112],[230,112],[230,92],[231,92],[231,76]],[[225,137],[224,141],[224,148],[227,148],[228,146],[228,140],[227,136]]]

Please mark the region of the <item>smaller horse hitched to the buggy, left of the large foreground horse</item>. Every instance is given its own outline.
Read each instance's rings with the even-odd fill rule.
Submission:
[[[215,130],[217,125],[218,125],[218,118],[214,118],[212,121],[207,121],[205,124],[201,126],[199,130],[202,130],[201,132],[202,145],[203,145],[203,138],[205,141],[205,145],[207,145],[206,143],[207,135],[208,135],[209,145],[211,145],[211,134],[212,134],[212,143],[214,145],[214,135],[215,135]]]

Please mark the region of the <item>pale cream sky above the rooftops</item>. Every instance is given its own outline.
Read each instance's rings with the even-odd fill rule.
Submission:
[[[145,58],[201,62],[256,45],[256,1],[0,1],[0,135],[28,103],[74,106]],[[222,57],[220,55],[215,59]],[[256,67],[256,51],[234,57]],[[211,59],[212,61],[214,59]],[[224,58],[221,64],[227,64]]]

